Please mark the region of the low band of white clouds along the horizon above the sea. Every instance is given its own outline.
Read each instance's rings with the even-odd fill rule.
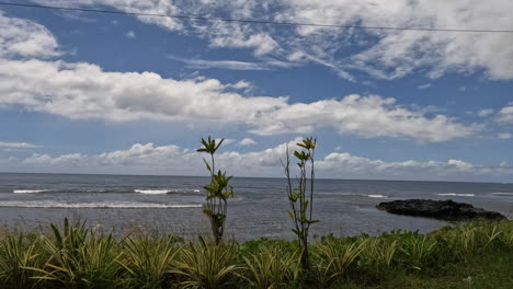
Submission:
[[[251,152],[225,151],[217,155],[219,167],[238,176],[283,176],[281,160],[287,147],[297,149],[296,138],[287,143]],[[50,169],[67,172],[116,172],[169,174],[172,172],[202,174],[202,153],[179,146],[155,146],[136,143],[126,150],[100,154],[71,153],[58,157],[33,154],[24,160],[10,160],[11,166],[32,170]],[[0,162],[4,163],[4,162]],[[397,161],[386,162],[349,152],[331,152],[319,157],[316,162],[319,177],[380,178],[380,180],[467,180],[497,181],[513,176],[513,169],[502,163],[499,166],[481,166],[463,160],[447,161]]]

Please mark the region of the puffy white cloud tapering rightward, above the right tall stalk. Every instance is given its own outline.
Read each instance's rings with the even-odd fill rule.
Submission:
[[[423,112],[396,104],[395,99],[357,94],[338,100],[290,104],[250,120],[256,135],[310,134],[319,127],[332,127],[341,134],[366,138],[396,137],[421,142],[438,142],[467,137],[479,127],[464,126],[444,115],[429,118]]]

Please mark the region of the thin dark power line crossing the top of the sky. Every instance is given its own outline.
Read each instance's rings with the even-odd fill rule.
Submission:
[[[465,28],[424,28],[424,27],[339,25],[339,24],[320,24],[320,23],[304,23],[304,22],[280,22],[280,21],[267,21],[267,20],[209,18],[209,16],[192,15],[192,14],[185,15],[185,14],[156,14],[156,13],[145,13],[145,12],[123,12],[123,11],[115,11],[115,10],[100,10],[100,9],[39,5],[39,4],[27,4],[27,3],[9,3],[9,2],[0,2],[0,5],[39,8],[39,9],[53,9],[53,10],[67,10],[67,11],[80,11],[80,12],[92,12],[92,13],[137,15],[137,16],[171,18],[171,19],[184,19],[184,20],[202,20],[202,21],[238,22],[238,23],[250,23],[250,24],[287,25],[287,26],[312,26],[312,27],[386,30],[386,31],[513,33],[513,30],[465,30]]]

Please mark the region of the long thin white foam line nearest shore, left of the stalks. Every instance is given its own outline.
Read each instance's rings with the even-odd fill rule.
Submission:
[[[181,209],[201,208],[198,204],[156,204],[139,201],[109,201],[109,203],[64,203],[64,201],[0,201],[3,208],[77,208],[77,209]]]

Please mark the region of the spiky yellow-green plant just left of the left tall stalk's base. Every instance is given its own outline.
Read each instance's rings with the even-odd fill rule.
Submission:
[[[126,270],[125,286],[140,289],[169,287],[179,248],[173,236],[142,236],[123,242],[118,264]]]

